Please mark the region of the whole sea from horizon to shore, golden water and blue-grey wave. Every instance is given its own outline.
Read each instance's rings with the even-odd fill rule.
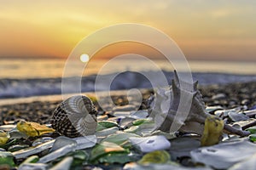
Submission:
[[[160,70],[163,70],[170,84],[174,66],[164,60],[152,62],[155,67],[137,59],[119,59],[111,62],[97,59],[91,60],[81,71],[78,66],[81,63],[73,63],[73,66],[67,67],[66,59],[0,59],[0,99],[61,94],[63,71],[66,71],[64,79],[71,80],[70,82],[78,81],[78,77],[82,77],[82,92],[95,90],[98,74],[103,75],[106,81],[114,75],[110,90],[153,88],[151,80],[143,75],[147,73],[157,81]],[[193,79],[202,85],[256,81],[256,62],[189,60],[188,63]],[[182,66],[179,65],[178,68]],[[100,90],[108,90],[105,86],[102,82]],[[78,89],[72,84],[66,91],[76,92]]]

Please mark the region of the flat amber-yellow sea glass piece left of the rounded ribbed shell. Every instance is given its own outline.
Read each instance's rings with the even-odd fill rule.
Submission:
[[[40,125],[37,122],[26,122],[20,121],[17,123],[17,129],[22,132],[26,133],[27,136],[40,136],[44,133],[53,133],[55,129],[46,127],[45,125]]]

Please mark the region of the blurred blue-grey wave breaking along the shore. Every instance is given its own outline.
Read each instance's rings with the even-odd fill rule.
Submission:
[[[173,72],[163,71],[166,80],[171,84],[173,77]],[[147,72],[134,72],[125,71],[119,74],[108,74],[102,76],[103,79],[110,79],[113,76],[113,82],[110,87],[108,86],[108,81],[100,82],[97,84],[97,88],[101,91],[106,90],[123,90],[131,88],[153,88],[151,82],[159,82],[159,74],[157,71],[147,71]],[[148,80],[147,75],[150,77]],[[224,73],[193,73],[193,80],[198,80],[201,85],[208,84],[225,84],[230,82],[255,82],[256,75],[236,75],[236,74],[224,74]],[[77,80],[78,77],[67,77],[63,80],[68,80],[70,84],[67,84],[66,93],[77,93],[78,89],[73,87],[73,82]],[[81,78],[81,92],[94,92],[96,84],[96,75],[82,77]],[[154,79],[154,80],[153,80]],[[39,95],[54,95],[61,94],[61,81],[62,78],[33,78],[33,79],[1,79],[0,80],[0,99],[10,99],[10,98],[23,98],[30,96]],[[160,86],[160,84],[159,84]],[[154,87],[155,88],[155,87]]]

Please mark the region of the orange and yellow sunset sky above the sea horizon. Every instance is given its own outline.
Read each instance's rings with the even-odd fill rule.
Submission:
[[[152,26],[177,42],[187,59],[256,61],[256,2],[220,0],[0,0],[0,58],[66,59],[92,32],[121,23]],[[104,37],[102,37],[104,38]],[[111,58],[130,49],[105,48]],[[128,49],[128,50],[127,50]],[[153,52],[152,52],[153,53]],[[157,54],[154,54],[157,58]]]

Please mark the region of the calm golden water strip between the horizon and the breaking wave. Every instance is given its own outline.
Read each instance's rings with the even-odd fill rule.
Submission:
[[[0,78],[49,78],[62,77],[63,72],[68,77],[90,76],[123,71],[189,71],[201,73],[230,73],[239,75],[256,75],[256,62],[236,62],[236,61],[204,61],[189,60],[188,63],[183,60],[173,60],[172,63],[166,60],[138,60],[138,59],[92,59],[87,64],[75,60],[68,62],[68,71],[65,59],[0,59]],[[107,65],[107,66],[106,66]],[[189,67],[188,67],[189,66]],[[67,74],[66,74],[67,73]]]

